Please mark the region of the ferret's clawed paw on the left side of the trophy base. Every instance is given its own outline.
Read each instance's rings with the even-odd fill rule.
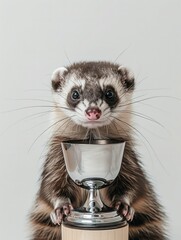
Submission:
[[[63,202],[58,199],[54,205],[54,210],[50,213],[50,218],[55,225],[60,225],[65,216],[69,215],[73,207],[70,201]]]

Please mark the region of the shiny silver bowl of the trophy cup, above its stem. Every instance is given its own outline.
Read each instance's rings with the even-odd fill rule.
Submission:
[[[124,142],[116,140],[63,142],[69,176],[79,185],[89,178],[104,179],[104,184],[109,184],[119,173],[124,146]]]

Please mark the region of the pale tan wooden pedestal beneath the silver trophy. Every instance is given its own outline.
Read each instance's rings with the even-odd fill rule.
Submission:
[[[84,230],[62,224],[62,240],[128,240],[128,225],[109,230]]]

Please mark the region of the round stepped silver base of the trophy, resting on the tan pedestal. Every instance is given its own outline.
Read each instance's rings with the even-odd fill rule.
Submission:
[[[117,211],[89,213],[73,210],[65,218],[64,225],[79,229],[113,229],[124,227],[127,222]]]

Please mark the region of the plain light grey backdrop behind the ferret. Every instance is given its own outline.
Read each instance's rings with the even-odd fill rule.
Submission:
[[[50,77],[82,60],[134,71],[137,149],[170,239],[180,240],[179,0],[0,0],[0,239],[28,239],[50,135]]]

